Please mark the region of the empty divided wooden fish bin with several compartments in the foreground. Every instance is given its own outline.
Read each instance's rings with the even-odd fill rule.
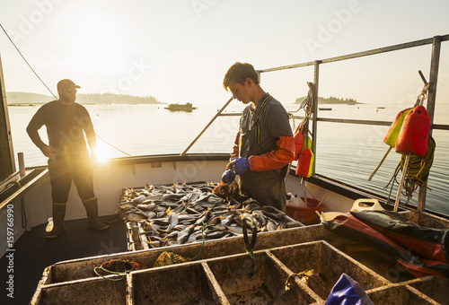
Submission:
[[[343,273],[359,283],[374,304],[447,303],[447,279],[429,276],[391,283],[327,241],[305,241],[322,235],[322,225],[262,233],[253,252],[254,265],[242,238],[206,242],[198,260],[172,266],[153,267],[164,250],[192,257],[201,245],[59,262],[46,268],[31,304],[249,305],[267,304],[277,296],[276,304],[322,304]],[[105,278],[92,273],[92,266],[110,259],[132,260],[147,268]],[[283,292],[286,283],[289,290]]]

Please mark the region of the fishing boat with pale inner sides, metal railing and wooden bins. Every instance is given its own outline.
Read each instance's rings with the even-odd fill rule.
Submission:
[[[263,77],[264,73],[272,71],[313,66],[313,83],[318,88],[321,65],[432,45],[427,97],[427,111],[432,119],[436,106],[439,50],[441,43],[447,40],[449,35],[437,36],[259,72]],[[1,76],[1,93],[4,97],[3,74]],[[48,169],[45,166],[19,166],[19,170],[15,169],[12,139],[6,136],[9,135],[8,117],[3,101],[2,115],[6,124],[0,130],[4,162],[0,186],[0,223],[5,235],[7,233],[1,248],[1,266],[8,273],[8,277],[2,279],[6,283],[6,294],[13,296],[14,301],[31,304],[230,304],[237,301],[322,304],[339,277],[348,274],[374,304],[447,304],[449,281],[445,276],[414,275],[398,264],[398,257],[384,251],[384,248],[354,240],[353,234],[330,231],[324,225],[326,215],[345,214],[354,209],[356,203],[365,202],[363,207],[366,210],[392,211],[397,207],[398,213],[419,227],[449,229],[449,215],[426,208],[426,187],[419,188],[418,206],[407,204],[401,196],[401,205],[394,206],[385,196],[323,176],[315,172],[314,166],[310,177],[300,177],[295,174],[293,164],[287,173],[286,190],[304,196],[304,199],[308,197],[319,202],[322,213],[318,222],[310,224],[298,221],[299,226],[258,232],[257,240],[253,232],[246,236],[207,240],[204,243],[197,240],[186,245],[153,248],[141,238],[142,228],[134,226],[136,223],[115,221],[124,189],[144,188],[145,184],[172,186],[198,181],[219,182],[229,154],[189,153],[189,150],[216,118],[240,116],[224,113],[231,100],[225,103],[181,153],[116,158],[97,164],[95,193],[99,198],[101,221],[111,221],[110,231],[85,230],[87,221],[84,209],[75,190],[72,190],[66,211],[66,232],[56,240],[49,241],[43,238],[51,215]],[[389,121],[320,118],[317,114],[315,102],[311,117],[311,149],[315,153],[319,121],[392,125]],[[434,130],[447,132],[449,126],[430,124],[429,134]],[[320,158],[319,153],[315,154],[315,160],[317,158]],[[22,161],[19,160],[19,164]],[[369,202],[375,204],[366,204]],[[298,209],[294,210],[300,211]],[[308,216],[318,212],[317,205],[306,209],[309,210],[301,212],[307,212]],[[246,239],[249,236],[250,243]],[[249,248],[249,244],[252,247]],[[167,252],[187,258],[179,264],[154,266],[161,255]],[[129,267],[126,272],[116,274],[94,273],[96,266],[103,266],[107,262],[131,264],[136,268]],[[175,291],[173,287],[176,287]],[[7,296],[4,300],[11,301]]]

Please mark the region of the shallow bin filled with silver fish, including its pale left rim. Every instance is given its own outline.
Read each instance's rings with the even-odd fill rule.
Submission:
[[[207,225],[208,231],[205,232],[207,239],[209,239],[208,233],[212,231],[215,231],[218,235],[216,240],[242,236],[241,216],[243,213],[246,213],[246,216],[250,215],[251,225],[257,225],[258,231],[275,231],[304,226],[303,223],[296,221],[273,206],[260,206],[257,201],[248,196],[235,196],[230,199],[219,198],[212,194],[214,187],[216,187],[214,183],[194,182],[180,186],[146,185],[145,187],[123,188],[119,199],[119,215],[126,220],[128,250],[136,251],[201,241],[202,235],[199,234],[201,223]],[[179,193],[174,193],[176,191]],[[178,196],[179,194],[180,196]],[[185,196],[181,197],[183,194]],[[197,200],[190,199],[192,197],[197,198]],[[201,198],[204,199],[201,200]],[[136,204],[137,202],[138,204]],[[145,210],[149,208],[149,205],[155,206],[154,210]],[[182,221],[184,227],[195,224],[195,231],[189,234],[189,240],[180,241],[177,240],[177,236],[180,235],[181,229],[178,230],[178,226],[173,227],[171,225],[169,214],[174,210],[177,213],[176,223],[180,223],[181,221],[178,222],[178,218],[180,219],[182,216],[179,210],[182,211],[183,206],[187,206],[187,208],[183,209],[182,216],[190,214],[197,218]],[[199,222],[199,218],[208,210],[210,210],[212,216],[207,218],[206,222]],[[129,219],[130,217],[127,219],[127,213],[132,211],[138,213],[142,219]],[[157,211],[156,217],[151,218],[150,213],[154,214],[154,211]],[[189,213],[186,213],[186,211]],[[145,213],[147,213],[148,219],[145,219]],[[260,222],[272,221],[272,225],[265,225],[262,228],[260,222],[256,221],[260,220],[260,215],[265,218]],[[232,216],[233,221],[231,224],[223,225],[223,221],[228,216]],[[211,221],[214,222],[210,223]],[[174,237],[171,237],[172,235]]]

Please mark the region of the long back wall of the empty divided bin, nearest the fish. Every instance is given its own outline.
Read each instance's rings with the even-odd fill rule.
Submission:
[[[313,240],[326,240],[332,245],[343,245],[348,241],[336,235],[322,225],[286,229],[284,231],[264,232],[257,235],[254,250],[284,247]],[[341,246],[343,247],[343,246]],[[48,266],[41,277],[40,284],[63,283],[84,278],[97,277],[93,272],[94,266],[101,266],[110,260],[133,261],[147,268],[152,268],[157,258],[164,252],[172,252],[182,257],[195,257],[201,249],[197,260],[215,257],[232,256],[245,253],[245,243],[241,237],[205,242],[201,249],[201,242],[178,245],[172,247],[153,248],[150,250],[137,250],[114,253],[98,257],[84,257],[58,262]]]

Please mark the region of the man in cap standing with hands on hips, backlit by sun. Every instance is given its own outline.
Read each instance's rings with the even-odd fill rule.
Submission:
[[[92,162],[84,140],[94,152],[96,139],[92,120],[84,106],[75,102],[76,89],[71,80],[57,83],[58,100],[38,109],[31,118],[27,133],[31,141],[48,157],[48,173],[53,200],[53,229],[46,232],[47,239],[57,238],[65,231],[66,202],[72,180],[83,201],[88,218],[88,229],[104,231],[109,228],[98,219],[97,197],[93,193]],[[42,142],[38,130],[47,128],[48,145]]]

